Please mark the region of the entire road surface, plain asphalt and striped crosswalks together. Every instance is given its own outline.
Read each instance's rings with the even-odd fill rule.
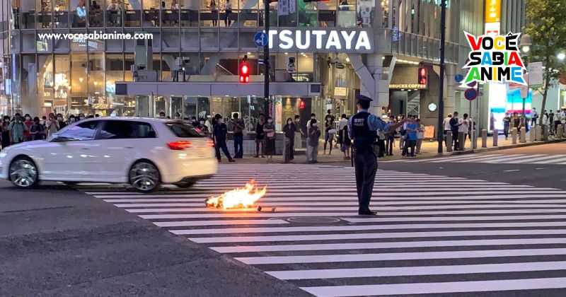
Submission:
[[[564,296],[565,148],[382,162],[374,218],[343,166],[223,164],[151,194],[0,182],[0,296]],[[251,177],[263,211],[204,207]]]

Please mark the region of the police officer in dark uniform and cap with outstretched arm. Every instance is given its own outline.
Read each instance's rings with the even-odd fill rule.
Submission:
[[[377,172],[377,155],[374,151],[376,141],[376,131],[392,132],[405,122],[402,120],[397,124],[388,124],[379,117],[368,112],[371,98],[364,95],[357,95],[358,113],[350,117],[348,121],[348,136],[354,142],[354,166],[356,172],[356,187],[358,194],[359,209],[358,214],[375,215],[375,211],[369,209],[369,200],[374,191],[374,181]]]

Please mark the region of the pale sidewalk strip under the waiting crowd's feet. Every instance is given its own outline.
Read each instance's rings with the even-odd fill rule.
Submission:
[[[482,140],[481,137],[480,139],[478,139],[478,148],[476,148],[475,150],[470,149],[470,139],[466,139],[466,150],[465,151],[451,151],[451,152],[446,152],[446,146],[444,146],[442,148],[442,150],[444,151],[443,153],[438,153],[438,142],[437,141],[429,141],[429,140],[425,140],[422,142],[422,146],[421,146],[421,153],[419,155],[416,155],[415,158],[434,158],[434,157],[444,157],[444,156],[451,156],[451,155],[460,155],[460,154],[465,154],[465,153],[482,153],[482,152],[487,152],[487,151],[497,151],[500,149],[505,149],[505,148],[517,148],[517,147],[521,147],[521,146],[536,146],[536,145],[540,145],[540,144],[552,144],[555,142],[561,142],[561,141],[566,141],[566,138],[562,138],[562,139],[554,139],[553,136],[550,136],[550,139],[548,141],[529,141],[529,134],[527,134],[526,136],[526,143],[521,144],[519,142],[519,136],[517,137],[517,144],[513,144],[512,143],[512,139],[511,139],[511,135],[509,135],[509,139],[505,140],[505,136],[504,135],[499,135],[499,138],[497,139],[497,144],[498,146],[492,146],[493,144],[493,137],[492,136],[488,136],[487,137],[487,147],[483,148],[482,146]],[[328,155],[328,154],[324,154],[323,153],[323,142],[320,142],[319,146],[318,146],[319,151],[318,151],[318,163],[319,164],[324,164],[324,163],[343,163],[344,165],[350,165],[351,161],[345,161],[344,160],[344,153],[342,153],[342,151],[340,151],[339,148],[333,148],[332,150],[332,154]],[[304,149],[304,148],[303,148]],[[328,153],[328,148],[327,148],[327,153]],[[383,158],[379,158],[379,161],[392,161],[392,160],[398,160],[400,158],[405,158],[401,156],[401,150],[399,149],[399,139],[395,139],[395,144],[393,146],[393,156],[385,156]],[[283,162],[283,156],[273,156],[273,163],[282,163]],[[226,158],[222,158],[222,163],[227,163]],[[244,158],[242,159],[236,159],[236,163],[245,163],[245,164],[262,164],[262,163],[267,163],[267,159],[266,158],[253,158],[253,156],[244,156]],[[294,162],[296,164],[302,164],[302,163],[306,163],[306,156],[304,153],[301,153],[298,156],[295,156]]]

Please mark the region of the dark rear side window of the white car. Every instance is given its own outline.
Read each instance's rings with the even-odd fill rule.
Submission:
[[[97,139],[156,138],[154,127],[144,122],[105,121]]]

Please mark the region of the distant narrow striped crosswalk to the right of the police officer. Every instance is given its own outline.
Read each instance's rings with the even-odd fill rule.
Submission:
[[[381,163],[490,163],[490,164],[541,164],[566,165],[566,155],[548,154],[468,154],[443,158],[398,159]]]

